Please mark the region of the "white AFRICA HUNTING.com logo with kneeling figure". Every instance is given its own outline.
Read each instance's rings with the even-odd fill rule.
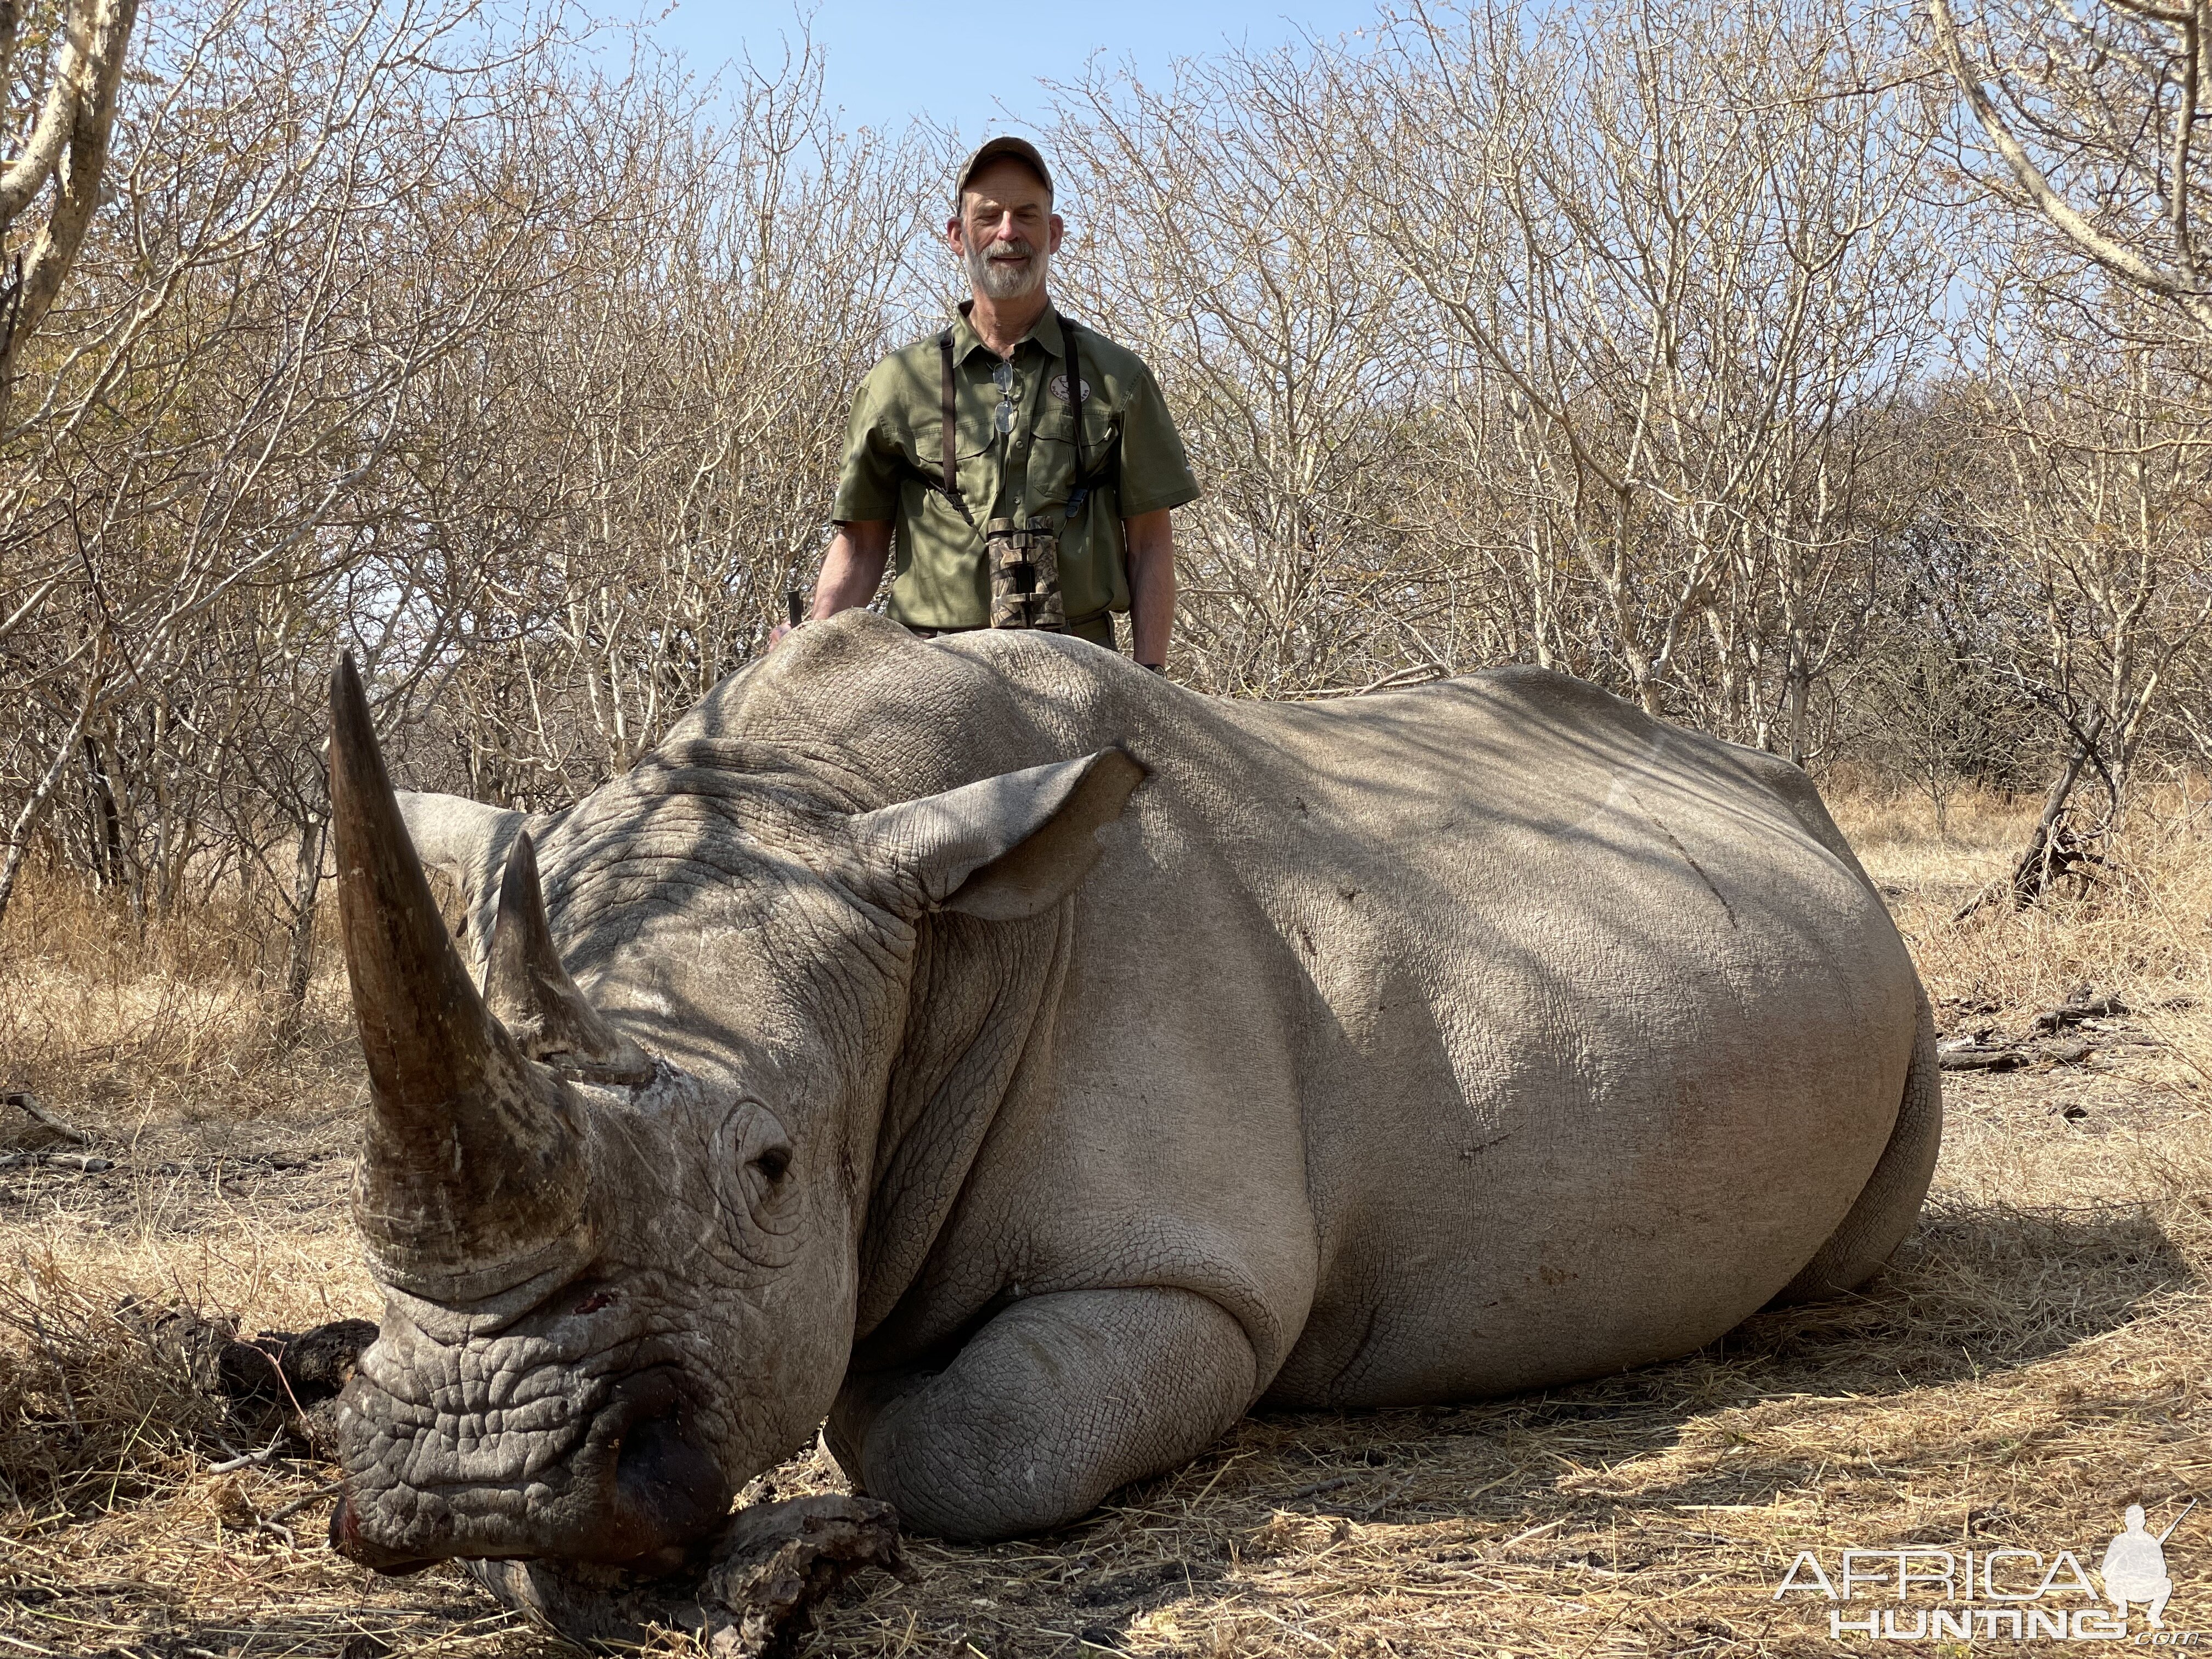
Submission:
[[[1829,1637],[1845,1641],[1995,1639],[2013,1641],[2126,1641],[2130,1613],[2141,1619],[2137,1641],[2159,1648],[2208,1648],[2212,1632],[2168,1630],[2166,1604],[2174,1579],[2166,1571],[2166,1540],[2197,1509],[2192,1498],[2163,1533],[2150,1531],[2141,1504],[2130,1504],[2121,1533],[2104,1548],[2097,1579],[2073,1551],[1951,1551],[1905,1544],[1880,1551],[1843,1551],[1829,1573],[1814,1551],[1798,1551],[1774,1588],[1774,1599],[1818,1597]],[[1882,1606],[1896,1601],[1898,1606]],[[2088,1606],[2081,1606],[2086,1601]]]

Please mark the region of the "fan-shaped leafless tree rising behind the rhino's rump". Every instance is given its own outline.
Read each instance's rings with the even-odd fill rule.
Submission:
[[[1564,551],[1648,710],[1794,759],[1869,533],[1856,480],[1944,285],[1905,53],[1827,0],[1475,4],[1416,9],[1369,71],[1383,246],[1502,398],[1480,440],[1531,580]]]

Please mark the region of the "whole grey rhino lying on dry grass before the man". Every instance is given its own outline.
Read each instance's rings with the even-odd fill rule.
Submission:
[[[818,1425],[909,1528],[1053,1528],[1254,1407],[1847,1292],[1936,1161],[1812,781],[1555,672],[1248,703],[845,613],[531,818],[398,796],[345,664],[330,790],[387,1573],[672,1571]]]

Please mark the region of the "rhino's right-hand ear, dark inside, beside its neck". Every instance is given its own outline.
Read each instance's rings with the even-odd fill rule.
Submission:
[[[854,832],[931,909],[1013,922],[1075,891],[1099,860],[1097,832],[1144,779],[1121,750],[1099,750],[865,812]]]

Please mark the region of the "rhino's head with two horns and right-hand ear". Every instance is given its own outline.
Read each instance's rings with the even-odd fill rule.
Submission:
[[[920,914],[1057,905],[1141,779],[1102,750],[845,816],[821,856],[783,856],[787,880],[752,883],[757,973],[710,1022],[726,1064],[679,1066],[564,969],[529,836],[478,989],[341,661],[332,838],[369,1075],[354,1214],[385,1318],[338,1407],[332,1544],[385,1573],[677,1566],[843,1383]]]

